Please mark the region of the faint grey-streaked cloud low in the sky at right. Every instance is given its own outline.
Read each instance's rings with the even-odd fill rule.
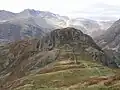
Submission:
[[[120,18],[120,6],[96,3],[83,10],[70,12],[72,17],[87,17],[92,19],[116,20]]]

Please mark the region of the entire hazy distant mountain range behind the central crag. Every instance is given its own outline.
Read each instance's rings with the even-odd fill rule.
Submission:
[[[84,18],[70,19],[47,11],[25,9],[20,13],[0,11],[0,40],[15,41],[37,38],[57,28],[74,27],[93,37],[104,32],[114,21],[94,21]]]

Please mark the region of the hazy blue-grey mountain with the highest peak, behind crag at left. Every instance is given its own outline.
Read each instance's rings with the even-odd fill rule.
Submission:
[[[50,12],[26,9],[20,13],[0,11],[0,39],[16,41],[39,38],[45,33],[66,25],[67,17]]]

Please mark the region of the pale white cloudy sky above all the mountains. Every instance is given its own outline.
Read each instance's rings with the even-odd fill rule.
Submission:
[[[20,12],[23,9],[50,11],[69,17],[92,19],[120,18],[120,0],[1,0],[0,9]]]

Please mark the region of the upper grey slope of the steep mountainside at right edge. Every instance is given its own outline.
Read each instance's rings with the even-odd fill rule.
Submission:
[[[100,46],[108,45],[109,48],[115,48],[119,45],[120,20],[116,21],[103,35],[96,38]]]

